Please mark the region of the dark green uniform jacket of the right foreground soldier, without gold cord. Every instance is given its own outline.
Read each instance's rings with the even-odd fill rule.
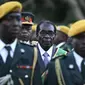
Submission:
[[[60,65],[66,85],[83,85],[82,76],[75,62],[73,52],[70,52],[66,57],[60,59]],[[59,85],[55,72],[54,61],[52,61],[49,65],[44,85]]]

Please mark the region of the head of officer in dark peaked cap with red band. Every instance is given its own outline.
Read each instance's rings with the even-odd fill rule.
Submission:
[[[26,44],[31,44],[32,25],[34,22],[34,14],[31,12],[22,12],[22,28],[19,33],[19,40]]]

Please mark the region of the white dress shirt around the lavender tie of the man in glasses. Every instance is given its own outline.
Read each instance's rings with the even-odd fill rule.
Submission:
[[[43,54],[44,54],[45,52],[47,52],[47,53],[49,54],[48,61],[50,61],[50,60],[51,60],[51,57],[52,57],[53,46],[51,46],[48,51],[45,51],[45,50],[40,46],[40,44],[38,43],[38,48],[39,48],[39,51],[40,51],[42,60],[44,61],[44,58],[45,58],[45,57],[43,56]]]

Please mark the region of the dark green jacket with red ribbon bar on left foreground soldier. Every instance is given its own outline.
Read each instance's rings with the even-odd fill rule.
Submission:
[[[11,74],[14,85],[21,85],[19,80],[21,80],[24,85],[30,85],[33,59],[33,46],[18,42],[10,69],[7,70],[7,64],[0,62],[0,77]],[[34,71],[33,85],[42,85],[38,62]]]

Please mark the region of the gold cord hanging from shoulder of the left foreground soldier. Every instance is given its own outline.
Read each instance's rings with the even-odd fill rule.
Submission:
[[[38,57],[38,54],[37,54],[37,47],[34,47],[34,60],[33,60],[33,66],[32,66],[32,75],[31,75],[31,82],[30,82],[30,85],[33,84],[33,76],[34,76],[35,66],[36,66],[36,63],[37,63],[37,57]]]

